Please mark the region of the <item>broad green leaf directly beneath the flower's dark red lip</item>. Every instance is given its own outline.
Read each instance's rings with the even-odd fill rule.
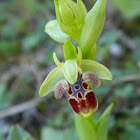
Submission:
[[[98,140],[94,125],[89,118],[75,116],[75,128],[79,136],[79,140]]]

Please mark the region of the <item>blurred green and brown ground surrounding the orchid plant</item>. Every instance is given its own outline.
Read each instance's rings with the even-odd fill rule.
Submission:
[[[83,0],[89,10],[96,0]],[[140,140],[140,0],[108,0],[106,23],[97,42],[97,61],[113,80],[95,88],[95,120],[114,102],[109,140]],[[53,0],[0,1],[0,140],[18,124],[36,140],[78,140],[67,96],[40,98],[38,90],[63,61],[62,44],[45,32],[55,19]]]

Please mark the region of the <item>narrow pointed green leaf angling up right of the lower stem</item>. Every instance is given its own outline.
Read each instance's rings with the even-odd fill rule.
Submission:
[[[110,120],[110,113],[112,111],[113,104],[111,104],[102,114],[99,121],[96,124],[97,140],[107,140],[108,125]]]

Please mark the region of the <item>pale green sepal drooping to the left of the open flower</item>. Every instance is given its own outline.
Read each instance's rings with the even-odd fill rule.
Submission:
[[[39,95],[42,97],[52,92],[55,88],[56,83],[61,79],[64,79],[64,75],[61,68],[57,67],[52,70],[44,80],[43,84],[40,87]]]

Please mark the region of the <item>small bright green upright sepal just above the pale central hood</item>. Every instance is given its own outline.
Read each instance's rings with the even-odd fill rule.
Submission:
[[[72,45],[71,42],[67,41],[63,45],[63,52],[64,52],[64,58],[66,60],[73,60],[77,57],[77,51],[76,48]]]

